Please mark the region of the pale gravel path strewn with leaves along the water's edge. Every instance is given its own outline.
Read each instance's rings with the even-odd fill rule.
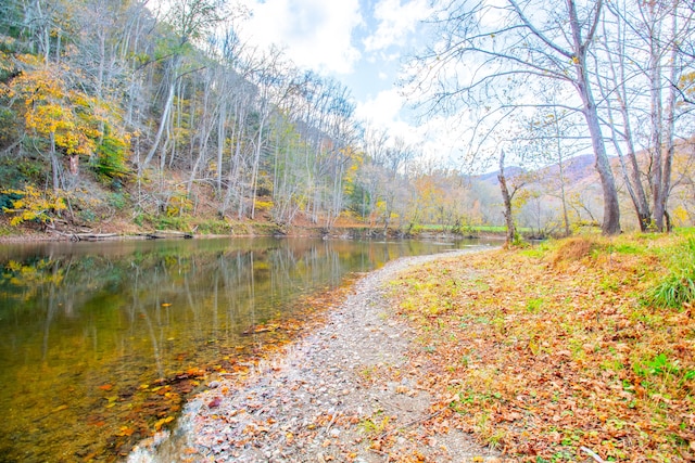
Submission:
[[[452,254],[367,274],[324,327],[243,386],[212,382],[169,438],[141,445],[128,462],[501,461],[450,426],[441,398],[422,386],[426,365],[408,361],[421,348],[415,334],[386,305],[386,282],[442,256]]]

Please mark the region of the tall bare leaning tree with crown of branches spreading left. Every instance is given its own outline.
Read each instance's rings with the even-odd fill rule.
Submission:
[[[572,86],[601,178],[603,231],[617,234],[618,191],[587,67],[602,12],[603,0],[585,7],[576,0],[446,2],[432,18],[438,39],[417,56],[409,85],[434,112],[460,112],[471,105],[493,108],[515,105],[528,100],[533,81],[544,79]],[[526,94],[517,91],[514,95],[510,83],[520,79],[526,83]]]

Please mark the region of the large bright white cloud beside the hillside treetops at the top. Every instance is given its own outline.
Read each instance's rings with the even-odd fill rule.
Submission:
[[[358,0],[249,0],[253,16],[240,35],[267,48],[275,43],[300,67],[349,74],[361,59],[352,44],[363,24]]]

